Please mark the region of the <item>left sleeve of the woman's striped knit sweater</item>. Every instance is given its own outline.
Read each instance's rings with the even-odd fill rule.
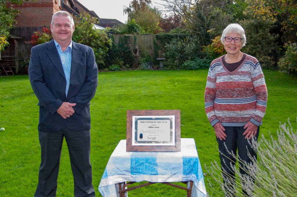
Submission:
[[[211,124],[214,126],[216,123],[219,122],[215,113],[214,113],[214,99],[216,97],[216,79],[214,76],[214,70],[212,67],[208,70],[207,81],[206,81],[206,88],[204,93],[204,105],[205,105],[205,112],[206,116]]]

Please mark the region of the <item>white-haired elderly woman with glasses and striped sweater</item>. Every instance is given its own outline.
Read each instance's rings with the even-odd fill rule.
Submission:
[[[230,162],[236,163],[236,158],[228,152],[236,154],[238,150],[240,160],[247,163],[251,162],[248,153],[257,156],[248,141],[252,137],[257,139],[259,135],[266,111],[267,89],[257,59],[240,51],[246,43],[244,29],[235,23],[228,25],[222,33],[221,42],[227,54],[210,65],[204,101],[206,115],[219,144],[224,179],[232,177],[232,182],[235,174]],[[240,173],[245,174],[242,169]],[[228,184],[225,193],[230,196],[234,191]]]

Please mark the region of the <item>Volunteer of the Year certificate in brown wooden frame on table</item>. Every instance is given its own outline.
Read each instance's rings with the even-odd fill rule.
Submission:
[[[180,110],[127,110],[126,151],[180,151]]]

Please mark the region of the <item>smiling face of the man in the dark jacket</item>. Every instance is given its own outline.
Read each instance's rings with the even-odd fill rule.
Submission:
[[[61,44],[70,44],[74,25],[71,24],[69,16],[55,16],[53,24],[50,24],[50,30],[53,33],[53,38]]]

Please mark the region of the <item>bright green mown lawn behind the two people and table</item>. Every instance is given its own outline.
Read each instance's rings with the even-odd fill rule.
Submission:
[[[126,110],[180,109],[181,137],[194,138],[202,168],[219,161],[214,131],[204,111],[208,70],[123,71],[99,73],[91,101],[91,163],[97,196],[108,159],[126,139]],[[276,135],[279,122],[297,117],[297,79],[264,70],[268,89],[266,116],[260,134]],[[40,165],[38,107],[28,75],[0,77],[0,196],[33,196]],[[205,177],[205,182],[209,178]],[[206,188],[207,189],[207,188]],[[73,177],[64,143],[57,196],[73,196]],[[186,196],[186,191],[155,184],[129,192],[129,196]]]

